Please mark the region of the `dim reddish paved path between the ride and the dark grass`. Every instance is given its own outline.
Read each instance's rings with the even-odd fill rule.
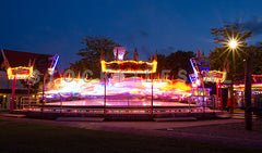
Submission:
[[[0,114],[1,115],[1,114]],[[69,126],[92,130],[131,132],[157,137],[170,137],[209,141],[230,145],[262,149],[262,120],[253,122],[253,130],[245,130],[243,119],[215,119],[196,122],[56,122],[46,119],[3,117],[9,123],[36,123]]]

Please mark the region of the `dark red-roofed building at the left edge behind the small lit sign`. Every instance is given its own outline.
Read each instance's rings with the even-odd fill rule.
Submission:
[[[0,104],[2,110],[9,110],[12,93],[12,80],[9,79],[7,69],[9,67],[31,67],[34,65],[34,69],[39,71],[39,75],[43,75],[47,73],[48,68],[53,66],[53,55],[1,49],[0,65]],[[55,69],[53,76],[58,76],[59,72],[57,67],[55,67]],[[15,88],[14,107],[17,109],[21,107],[22,99],[28,97],[28,89],[21,82],[21,80],[16,80]]]

